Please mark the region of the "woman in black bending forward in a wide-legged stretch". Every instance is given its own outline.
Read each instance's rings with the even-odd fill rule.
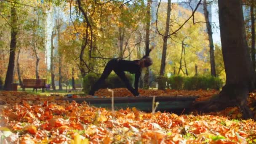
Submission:
[[[139,77],[141,76],[141,70],[142,68],[149,67],[150,65],[152,65],[152,59],[150,59],[148,56],[144,56],[142,59],[135,61],[112,59],[107,63],[99,80],[91,88],[89,95],[93,96],[95,91],[97,91],[100,88],[104,80],[109,76],[112,70],[114,70],[117,76],[120,77],[121,80],[123,80],[126,88],[128,88],[128,90],[131,91],[131,93],[134,96],[139,96],[138,83]],[[129,82],[128,78],[125,77],[124,71],[135,74],[134,88],[131,86],[131,83]]]

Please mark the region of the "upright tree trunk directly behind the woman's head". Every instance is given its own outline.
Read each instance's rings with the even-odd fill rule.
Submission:
[[[150,8],[151,8],[152,0],[147,1],[147,22],[146,22],[146,38],[145,38],[145,53],[149,53],[149,32],[150,32]],[[144,75],[144,88],[149,88],[149,68],[146,68],[145,75]]]

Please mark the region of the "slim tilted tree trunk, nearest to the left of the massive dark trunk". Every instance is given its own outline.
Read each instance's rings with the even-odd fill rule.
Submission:
[[[207,27],[207,33],[208,33],[208,40],[210,45],[210,63],[211,63],[211,75],[216,77],[216,69],[215,69],[215,59],[214,59],[214,45],[213,45],[213,32],[211,29],[211,23],[209,20],[209,12],[207,10],[207,2],[206,0],[203,0],[203,11],[205,15],[205,22]]]

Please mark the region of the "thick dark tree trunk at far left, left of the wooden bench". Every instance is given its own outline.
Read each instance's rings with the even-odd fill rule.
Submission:
[[[17,14],[15,10],[15,5],[11,6],[11,43],[10,43],[10,56],[9,56],[9,64],[5,77],[5,91],[11,91],[11,84],[13,83],[13,70],[14,70],[14,61],[15,61],[15,51],[16,51],[16,43],[17,43]]]

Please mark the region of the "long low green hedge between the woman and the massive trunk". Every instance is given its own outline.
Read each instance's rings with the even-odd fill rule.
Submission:
[[[219,90],[223,82],[219,77],[213,76],[194,76],[194,77],[181,77],[173,76],[169,78],[169,83],[172,89],[176,90],[207,90],[216,89]]]

